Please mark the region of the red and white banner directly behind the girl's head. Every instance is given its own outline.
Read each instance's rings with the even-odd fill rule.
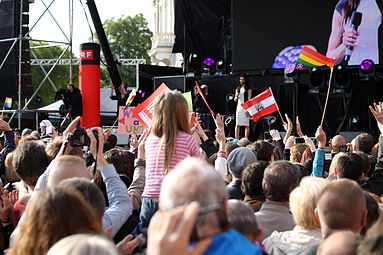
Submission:
[[[138,121],[146,129],[149,129],[149,127],[152,125],[154,102],[156,101],[156,98],[168,91],[170,91],[168,86],[166,86],[165,83],[162,83],[161,86],[159,86],[158,89],[156,89],[156,91],[154,91],[153,94],[148,97],[148,99],[146,99],[144,102],[132,110],[134,116],[136,116]]]

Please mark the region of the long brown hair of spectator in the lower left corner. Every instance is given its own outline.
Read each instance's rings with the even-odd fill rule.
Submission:
[[[45,188],[28,206],[8,254],[46,254],[60,239],[79,233],[101,234],[101,219],[77,191]]]

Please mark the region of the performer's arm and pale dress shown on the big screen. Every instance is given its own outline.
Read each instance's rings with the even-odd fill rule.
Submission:
[[[354,11],[362,13],[358,31],[351,28],[351,15]],[[372,59],[378,64],[378,29],[381,23],[382,10],[376,0],[340,0],[332,18],[327,57],[335,58],[335,64],[340,64],[347,46],[352,46],[348,64],[360,65],[364,59]]]

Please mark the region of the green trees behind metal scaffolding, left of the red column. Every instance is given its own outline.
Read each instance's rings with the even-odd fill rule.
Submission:
[[[38,59],[58,59],[62,52],[64,51],[63,48],[54,46],[54,47],[42,47],[42,48],[33,48],[33,46],[43,46],[47,45],[46,43],[32,43],[31,47],[33,52],[36,54],[36,57]],[[34,58],[34,56],[31,54],[31,58]],[[70,52],[69,50],[64,54],[63,59],[69,59],[70,58]],[[52,66],[43,66],[46,72],[50,70]],[[49,75],[49,78],[52,80],[53,84],[56,86],[56,88],[62,89],[66,88],[67,84],[69,83],[69,69],[70,66],[61,66],[57,65],[52,73]],[[40,83],[43,81],[45,74],[41,70],[40,66],[32,66],[31,67],[31,73],[32,73],[32,82],[33,82],[33,89],[36,91],[37,87],[40,85]],[[78,66],[73,66],[73,84],[78,87]],[[42,98],[42,103],[40,105],[36,105],[35,101],[33,100],[31,104],[28,106],[29,109],[34,109],[38,107],[42,107],[44,105],[51,104],[55,102],[55,90],[51,86],[48,80],[45,81],[44,85],[40,88],[39,92],[37,93],[39,97]]]

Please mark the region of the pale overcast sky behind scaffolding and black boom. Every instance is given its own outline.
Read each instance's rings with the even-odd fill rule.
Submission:
[[[54,0],[49,8],[54,18],[60,24],[62,30],[69,38],[69,1],[70,0]],[[45,10],[43,2],[48,6],[52,0],[35,0],[30,4],[29,26],[35,24],[37,19]],[[91,32],[85,18],[84,8],[88,15],[91,27],[94,30],[92,19],[89,15],[86,0],[74,0],[74,25],[73,25],[73,52],[78,55],[79,45],[89,41]],[[134,16],[142,13],[149,23],[149,28],[154,31],[154,7],[153,0],[95,0],[101,21],[115,18],[116,20],[122,15]],[[43,39],[50,41],[67,41],[60,28],[56,25],[53,18],[48,12],[40,19],[31,32],[33,39]]]

